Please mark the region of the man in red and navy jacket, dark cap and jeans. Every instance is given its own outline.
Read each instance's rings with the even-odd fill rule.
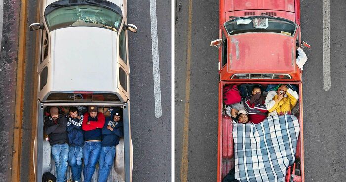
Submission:
[[[84,114],[82,129],[84,130],[83,161],[84,182],[91,182],[95,166],[100,157],[102,127],[105,123],[103,113],[98,112],[97,106],[89,106]]]

